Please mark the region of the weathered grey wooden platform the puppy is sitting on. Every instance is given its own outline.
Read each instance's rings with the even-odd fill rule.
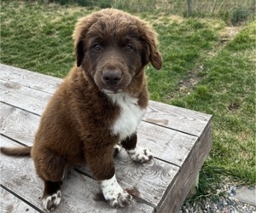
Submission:
[[[1,147],[31,146],[40,115],[61,82],[1,65]],[[211,148],[211,116],[150,101],[138,129],[138,144],[154,159],[136,164],[125,152],[115,158],[119,184],[134,197],[125,209],[112,209],[102,199],[98,184],[84,168],[72,171],[62,186],[63,199],[55,210],[73,212],[176,213]],[[1,155],[0,212],[43,212],[43,181],[31,158]]]

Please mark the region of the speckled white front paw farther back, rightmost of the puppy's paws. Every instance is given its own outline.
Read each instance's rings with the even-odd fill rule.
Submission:
[[[148,150],[148,148],[136,147],[135,149],[127,150],[130,158],[133,161],[139,163],[146,163],[148,160],[153,158],[153,154]]]

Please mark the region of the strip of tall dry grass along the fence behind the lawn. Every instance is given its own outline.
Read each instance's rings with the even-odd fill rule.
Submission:
[[[42,1],[42,0],[41,0]],[[77,3],[91,8],[115,8],[129,12],[162,12],[168,14],[221,15],[231,22],[244,20],[255,13],[255,0],[43,0],[44,3]]]

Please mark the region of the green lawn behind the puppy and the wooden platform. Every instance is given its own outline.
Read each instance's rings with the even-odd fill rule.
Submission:
[[[1,3],[1,63],[63,78],[73,66],[76,5]],[[136,13],[135,13],[136,14]],[[151,99],[213,115],[212,151],[197,196],[214,194],[222,176],[255,185],[255,34],[253,20],[142,12],[159,33],[164,66],[148,66]]]

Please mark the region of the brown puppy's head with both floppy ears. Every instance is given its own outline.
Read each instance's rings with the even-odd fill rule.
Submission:
[[[73,33],[77,66],[105,93],[119,93],[162,57],[151,26],[117,9],[103,9],[79,20]]]

